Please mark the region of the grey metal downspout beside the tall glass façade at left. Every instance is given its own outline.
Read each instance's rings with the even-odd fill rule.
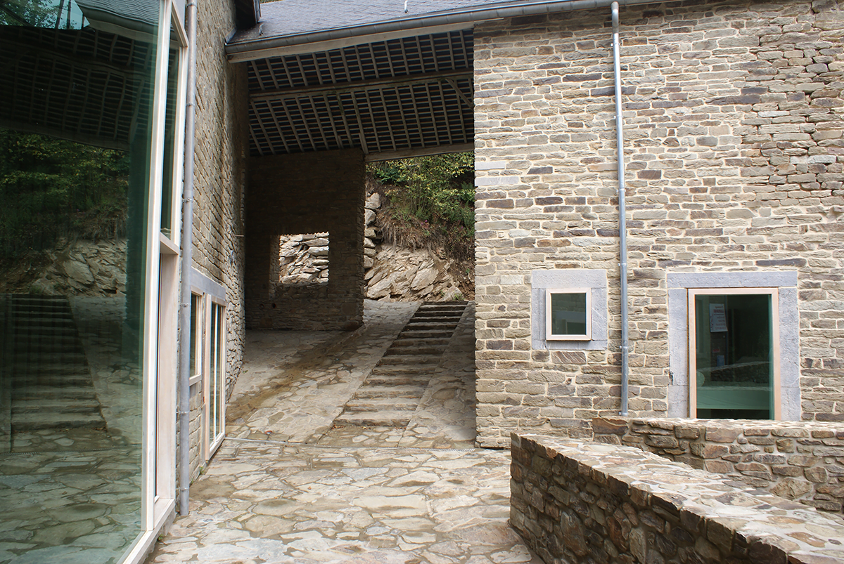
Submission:
[[[179,514],[188,513],[191,481],[191,270],[193,267],[193,150],[197,102],[197,2],[185,8],[187,32],[187,106],[185,109],[185,181],[181,199],[181,285],[179,288]]]

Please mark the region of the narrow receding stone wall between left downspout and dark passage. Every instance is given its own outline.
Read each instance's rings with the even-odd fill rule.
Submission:
[[[240,374],[246,330],[242,283],[246,67],[230,64],[225,56],[225,37],[235,29],[233,5],[228,0],[212,0],[199,3],[197,9],[193,266],[226,288],[228,396]],[[187,343],[187,339],[181,342]],[[191,469],[196,475],[204,464],[197,431],[203,395],[198,389],[192,393]]]

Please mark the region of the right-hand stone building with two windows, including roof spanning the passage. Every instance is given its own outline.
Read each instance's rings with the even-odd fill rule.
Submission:
[[[254,163],[473,141],[479,443],[844,416],[838,3],[622,3],[625,297],[610,3],[412,4],[268,4],[228,50]]]

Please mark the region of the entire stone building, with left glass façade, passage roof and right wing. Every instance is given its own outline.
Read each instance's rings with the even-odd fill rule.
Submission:
[[[225,437],[246,328],[360,325],[366,162],[474,150],[479,444],[844,420],[844,7],[619,3],[4,3],[9,558],[140,561]],[[286,287],[280,238],[325,233],[327,283]],[[62,497],[69,467],[111,490]]]

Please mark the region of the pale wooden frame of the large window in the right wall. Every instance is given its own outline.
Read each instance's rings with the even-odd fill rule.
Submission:
[[[782,420],[782,397],[780,394],[780,314],[779,289],[776,287],[695,287],[688,288],[687,311],[689,312],[689,416],[697,417],[697,339],[695,333],[697,296],[733,296],[733,295],[768,295],[771,296],[771,363],[773,378],[771,379],[771,404],[773,406],[771,419]]]

